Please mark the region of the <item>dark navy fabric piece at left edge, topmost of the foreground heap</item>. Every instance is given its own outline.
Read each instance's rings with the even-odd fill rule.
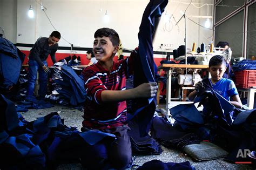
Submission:
[[[0,130],[12,131],[19,126],[15,104],[0,94]]]

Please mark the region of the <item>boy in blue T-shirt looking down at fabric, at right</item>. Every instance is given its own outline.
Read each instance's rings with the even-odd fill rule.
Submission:
[[[226,61],[223,56],[213,56],[209,62],[208,71],[211,73],[210,82],[212,83],[213,90],[230,101],[237,108],[242,107],[241,100],[238,96],[237,88],[232,80],[223,78],[223,74],[226,71]],[[204,85],[199,81],[195,90],[188,95],[188,98],[192,101],[197,96],[198,91],[203,89]]]

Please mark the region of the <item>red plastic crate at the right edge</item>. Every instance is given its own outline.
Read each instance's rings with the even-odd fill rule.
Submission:
[[[256,70],[242,70],[234,74],[235,86],[245,89],[256,87]]]

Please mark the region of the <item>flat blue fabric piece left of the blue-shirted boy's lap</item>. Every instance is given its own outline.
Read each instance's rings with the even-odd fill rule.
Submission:
[[[194,104],[180,104],[170,108],[173,118],[185,130],[188,125],[203,125],[204,119]]]

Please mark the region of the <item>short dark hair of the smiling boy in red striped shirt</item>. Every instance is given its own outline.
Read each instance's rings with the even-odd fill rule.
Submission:
[[[113,45],[119,46],[119,35],[116,31],[110,28],[101,28],[94,33],[94,38],[97,37],[109,37]]]

